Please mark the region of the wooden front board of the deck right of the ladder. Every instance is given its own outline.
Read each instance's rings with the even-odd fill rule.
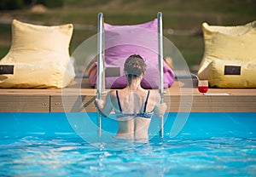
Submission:
[[[256,96],[201,95],[193,96],[192,99],[186,96],[166,96],[165,102],[169,111],[256,111]]]

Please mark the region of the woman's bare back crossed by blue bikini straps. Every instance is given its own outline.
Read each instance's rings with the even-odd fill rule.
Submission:
[[[141,87],[111,93],[113,108],[119,123],[117,136],[122,138],[148,139],[148,127],[154,113],[155,92]]]

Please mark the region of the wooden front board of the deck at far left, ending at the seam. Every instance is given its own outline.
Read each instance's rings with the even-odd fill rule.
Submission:
[[[2,112],[49,112],[49,95],[0,95]]]

